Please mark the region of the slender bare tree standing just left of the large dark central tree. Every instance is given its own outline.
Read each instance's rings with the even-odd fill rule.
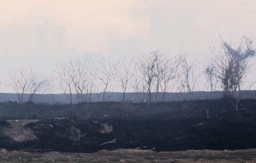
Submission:
[[[122,92],[123,92],[123,102],[125,102],[125,95],[126,90],[128,88],[128,83],[134,75],[134,62],[130,60],[128,65],[126,65],[126,59],[124,58],[123,61],[118,61],[117,63],[113,64],[114,68],[114,76],[116,81],[121,83]]]

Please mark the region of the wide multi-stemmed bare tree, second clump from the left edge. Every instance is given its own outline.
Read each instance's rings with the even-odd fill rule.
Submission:
[[[76,102],[91,102],[95,91],[95,71],[89,60],[58,63],[55,70],[59,89],[73,103],[73,92]]]

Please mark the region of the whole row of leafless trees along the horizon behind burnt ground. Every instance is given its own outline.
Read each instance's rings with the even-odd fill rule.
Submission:
[[[32,67],[19,67],[8,71],[9,86],[16,92],[16,98],[2,97],[1,100],[15,99],[23,103],[37,101],[39,97],[40,101],[49,103],[133,101],[149,105],[151,102],[223,97],[235,98],[234,105],[238,108],[244,96],[242,88],[251,90],[256,83],[243,85],[255,56],[252,44],[252,40],[243,37],[238,47],[232,47],[221,39],[221,50],[212,48],[214,55],[206,63],[189,62],[184,51],[171,58],[168,52],[160,50],[145,53],[136,61],[103,58],[98,65],[89,59],[60,62],[56,64],[52,80],[39,76]],[[117,87],[122,93],[114,92]],[[51,89],[63,94],[37,95],[49,93]],[[211,93],[197,92],[203,90]],[[45,96],[51,98],[44,100]]]

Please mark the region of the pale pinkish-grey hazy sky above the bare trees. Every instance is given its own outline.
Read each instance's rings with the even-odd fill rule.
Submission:
[[[234,44],[256,37],[256,0],[0,2],[1,81],[20,65],[50,75],[61,60],[133,58],[155,49],[175,56],[182,46],[203,61],[209,47],[219,47],[218,28]],[[0,92],[8,91],[2,84]]]

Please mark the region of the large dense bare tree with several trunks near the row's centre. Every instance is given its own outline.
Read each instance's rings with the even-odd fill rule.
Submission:
[[[152,100],[151,93],[155,93],[154,101],[165,100],[165,93],[170,88],[170,81],[177,76],[178,61],[168,57],[168,53],[155,50],[145,54],[138,62],[138,74],[134,80],[133,88],[144,92],[146,88],[147,105]],[[143,80],[140,80],[140,78]],[[139,82],[141,84],[139,84]],[[173,83],[174,84],[174,83]],[[172,84],[172,85],[173,85]]]

